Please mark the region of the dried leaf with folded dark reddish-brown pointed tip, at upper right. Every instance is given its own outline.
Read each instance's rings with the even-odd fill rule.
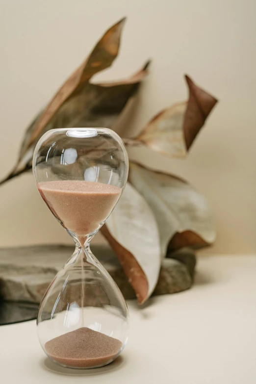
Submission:
[[[158,113],[135,139],[125,140],[128,145],[144,144],[150,149],[170,157],[185,157],[196,135],[217,102],[185,76],[188,102],[180,102]]]

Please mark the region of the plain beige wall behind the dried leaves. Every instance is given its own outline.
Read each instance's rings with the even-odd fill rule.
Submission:
[[[121,55],[98,78],[128,76],[153,59],[134,130],[186,98],[184,73],[220,99],[186,160],[147,150],[132,156],[205,194],[218,235],[208,253],[255,253],[255,0],[0,0],[0,178],[13,166],[29,121],[125,15]],[[70,241],[32,175],[0,187],[0,246]]]

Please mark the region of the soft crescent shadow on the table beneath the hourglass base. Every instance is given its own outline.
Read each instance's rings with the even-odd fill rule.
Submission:
[[[94,369],[72,369],[65,368],[58,364],[55,364],[51,361],[50,358],[42,358],[40,361],[40,365],[43,369],[47,371],[51,371],[51,373],[55,373],[57,375],[69,375],[69,376],[95,376],[102,375],[108,372],[113,372],[123,367],[125,364],[125,358],[122,356],[118,356],[113,362],[104,367],[94,368]]]

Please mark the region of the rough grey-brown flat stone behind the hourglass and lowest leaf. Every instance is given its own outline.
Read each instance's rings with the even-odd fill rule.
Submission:
[[[134,298],[135,293],[114,252],[106,246],[91,248],[124,297]],[[61,245],[0,249],[0,297],[9,301],[40,303],[48,285],[73,252],[74,247]],[[162,260],[155,295],[180,292],[193,283],[195,255],[191,251],[172,255]]]

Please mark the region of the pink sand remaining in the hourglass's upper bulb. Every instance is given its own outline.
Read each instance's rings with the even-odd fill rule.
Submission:
[[[101,227],[121,193],[114,185],[80,180],[39,182],[37,188],[63,227],[78,237]]]

